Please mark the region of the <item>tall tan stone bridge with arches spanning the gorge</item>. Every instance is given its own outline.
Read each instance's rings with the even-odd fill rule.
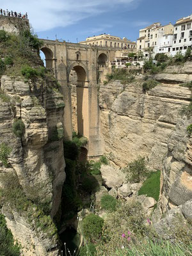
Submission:
[[[109,63],[115,51],[108,47],[81,45],[58,40],[43,40],[41,51],[45,54],[47,68],[52,68],[54,76],[61,84],[65,100],[65,138],[72,138],[72,95],[70,72],[77,74],[77,132],[88,138],[89,157],[103,154],[98,105],[98,84],[109,71]]]

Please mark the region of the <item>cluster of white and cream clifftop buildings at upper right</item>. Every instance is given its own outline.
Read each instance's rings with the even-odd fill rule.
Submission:
[[[192,15],[183,17],[176,21],[173,26],[171,23],[161,26],[156,22],[146,28],[140,29],[140,37],[137,40],[137,49],[148,57],[148,51],[166,53],[174,56],[177,52],[184,54],[192,43]]]

